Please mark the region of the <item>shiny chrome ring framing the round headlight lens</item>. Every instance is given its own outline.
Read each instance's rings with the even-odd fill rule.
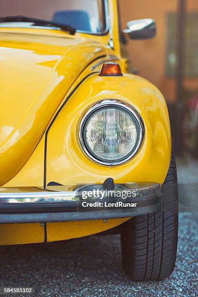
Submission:
[[[105,158],[99,157],[95,154],[93,150],[90,149],[89,145],[87,144],[86,140],[86,127],[88,125],[89,119],[92,119],[92,117],[103,110],[107,109],[115,109],[118,111],[121,111],[125,113],[126,115],[129,115],[132,118],[132,121],[134,122],[137,137],[135,141],[135,145],[132,148],[132,150],[125,156],[115,159],[115,160],[107,160]],[[115,166],[115,165],[122,165],[129,160],[132,159],[132,157],[139,151],[142,142],[144,140],[144,124],[141,119],[141,116],[139,113],[128,103],[125,103],[118,99],[104,99],[102,101],[97,102],[94,104],[89,110],[82,116],[82,120],[80,123],[79,128],[79,139],[80,144],[82,146],[83,152],[94,162],[100,164],[100,165],[107,165],[107,166]]]

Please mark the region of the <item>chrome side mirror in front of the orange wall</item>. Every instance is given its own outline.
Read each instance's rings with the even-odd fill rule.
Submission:
[[[129,34],[130,39],[150,39],[156,35],[156,25],[152,18],[141,18],[129,21],[124,33]]]

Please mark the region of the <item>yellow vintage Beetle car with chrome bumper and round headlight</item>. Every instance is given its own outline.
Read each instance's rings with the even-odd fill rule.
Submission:
[[[126,54],[127,36],[155,32],[149,18],[122,32],[116,0],[1,7],[0,245],[120,233],[132,280],[172,273],[178,203],[167,107],[129,73]]]

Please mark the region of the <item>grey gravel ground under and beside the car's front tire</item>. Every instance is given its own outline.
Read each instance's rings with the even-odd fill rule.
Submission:
[[[179,181],[188,182],[198,164],[179,161],[178,167]],[[0,287],[33,287],[36,297],[196,297],[198,213],[180,214],[179,223],[176,267],[165,281],[130,281],[121,266],[119,236],[111,235],[48,247],[0,247]]]

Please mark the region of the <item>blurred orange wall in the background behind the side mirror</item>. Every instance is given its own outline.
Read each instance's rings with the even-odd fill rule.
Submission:
[[[178,0],[119,0],[122,27],[135,18],[152,17],[156,21],[157,36],[152,40],[129,41],[128,51],[132,65],[139,75],[153,82],[167,101],[176,99],[176,83],[165,76],[166,15],[177,12]],[[188,0],[188,11],[198,12],[198,0]],[[187,79],[185,85],[198,87],[198,79]]]

